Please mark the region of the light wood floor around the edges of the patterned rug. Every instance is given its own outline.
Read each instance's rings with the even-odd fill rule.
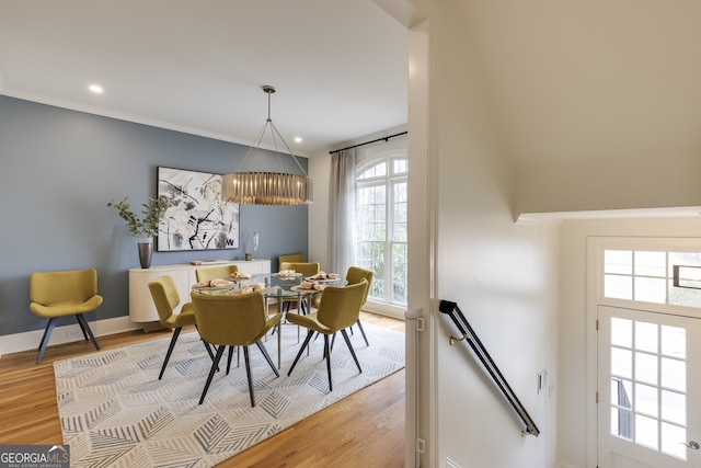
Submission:
[[[404,322],[371,313],[363,322],[404,331]],[[102,350],[161,338],[169,331],[100,336]],[[372,343],[370,343],[372,344]],[[94,352],[90,342],[0,357],[0,445],[62,444],[54,361]],[[403,467],[404,370],[357,391],[325,410],[220,464],[219,467]]]

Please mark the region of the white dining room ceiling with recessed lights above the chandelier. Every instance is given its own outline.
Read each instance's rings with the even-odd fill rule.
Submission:
[[[309,156],[406,123],[406,39],[371,0],[0,0],[0,93],[250,145],[271,84]]]

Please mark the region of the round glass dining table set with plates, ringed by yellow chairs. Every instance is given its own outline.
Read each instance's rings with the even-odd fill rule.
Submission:
[[[280,275],[278,273],[257,273],[252,274],[251,277],[248,278],[222,278],[229,279],[232,282],[232,285],[229,287],[197,287],[197,285],[193,286],[193,290],[206,294],[229,294],[231,290],[241,289],[246,286],[252,286],[254,284],[263,285],[263,297],[265,298],[266,306],[269,305],[271,300],[275,300],[277,304],[277,313],[284,313],[283,303],[285,300],[297,300],[301,304],[302,300],[307,304],[307,310],[311,310],[312,298],[315,294],[319,294],[318,289],[307,289],[299,288],[306,279],[301,274],[292,274],[292,275]],[[317,279],[314,282],[320,284],[337,284],[342,281],[341,277],[332,278],[332,279]],[[279,327],[277,327],[277,368],[281,367],[281,356],[280,356],[280,347],[281,347],[281,331],[283,324],[285,323],[285,316],[280,319]],[[275,329],[274,329],[275,330]],[[299,341],[299,330],[297,331],[297,341]]]

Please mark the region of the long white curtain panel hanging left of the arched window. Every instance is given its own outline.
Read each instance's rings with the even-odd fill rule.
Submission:
[[[331,155],[329,271],[344,274],[355,264],[355,148]]]

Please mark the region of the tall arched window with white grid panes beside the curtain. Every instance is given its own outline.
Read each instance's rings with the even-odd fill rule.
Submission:
[[[363,161],[356,174],[356,264],[375,273],[371,300],[406,306],[406,153]]]

